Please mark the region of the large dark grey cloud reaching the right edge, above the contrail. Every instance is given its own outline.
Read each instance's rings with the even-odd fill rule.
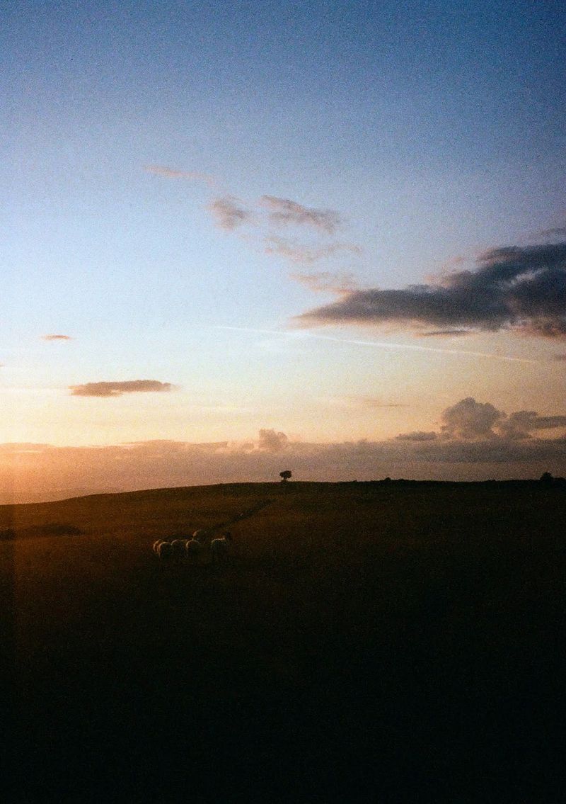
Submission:
[[[436,330],[512,330],[566,337],[566,242],[493,248],[474,271],[428,285],[366,289],[295,318],[303,324],[393,324]]]

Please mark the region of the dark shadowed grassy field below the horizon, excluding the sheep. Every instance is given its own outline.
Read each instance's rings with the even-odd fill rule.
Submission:
[[[153,555],[267,501],[226,567]],[[563,802],[564,503],[289,482],[0,507],[9,800]]]

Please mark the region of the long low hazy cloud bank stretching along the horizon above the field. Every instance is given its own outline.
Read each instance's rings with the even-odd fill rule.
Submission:
[[[410,434],[407,434],[410,435]],[[282,463],[284,457],[285,463]],[[312,481],[482,480],[566,475],[566,440],[440,437],[311,444],[284,451],[257,445],[148,441],[100,447],[0,445],[0,503],[104,491],[279,482],[279,472]]]

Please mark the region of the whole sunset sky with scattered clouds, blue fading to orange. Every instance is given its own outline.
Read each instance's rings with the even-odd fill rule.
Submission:
[[[0,8],[0,502],[566,473],[562,3]]]

